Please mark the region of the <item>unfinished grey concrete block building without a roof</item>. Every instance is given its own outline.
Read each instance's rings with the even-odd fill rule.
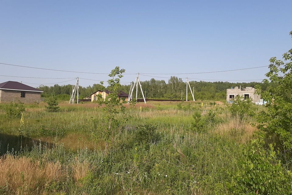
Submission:
[[[258,102],[261,98],[261,95],[255,94],[255,88],[253,87],[235,87],[234,89],[231,87],[231,89],[226,90],[227,102],[232,102],[237,96],[242,96],[244,99],[251,98],[253,103]]]

